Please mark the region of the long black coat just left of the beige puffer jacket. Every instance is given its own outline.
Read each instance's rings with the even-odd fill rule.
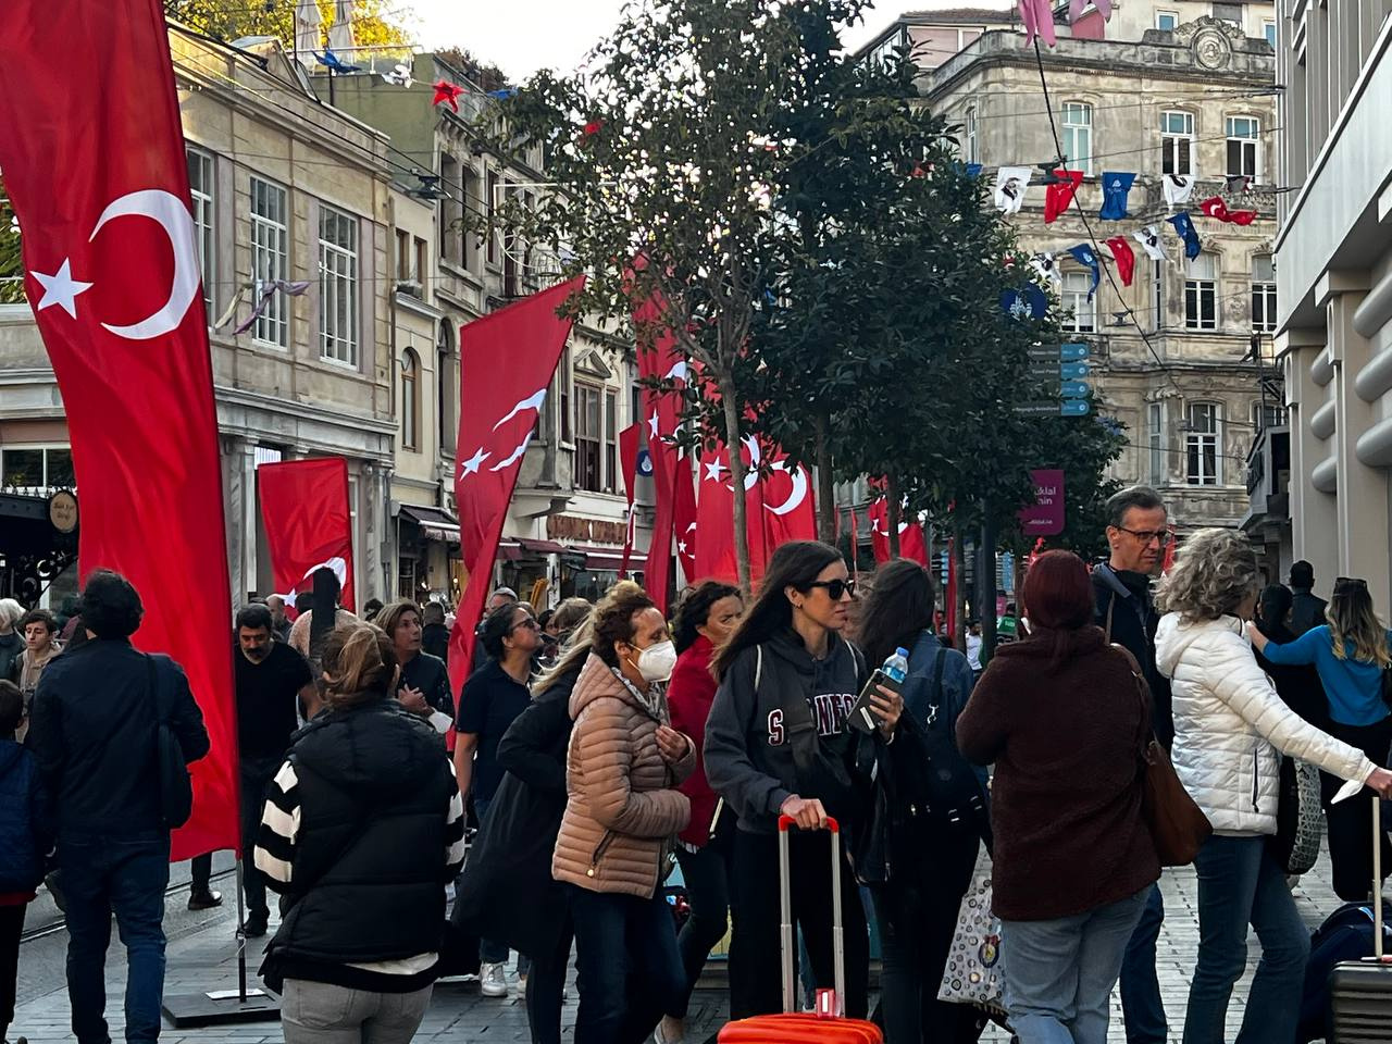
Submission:
[[[576,667],[537,696],[498,743],[505,770],[459,883],[457,923],[519,954],[546,958],[568,923],[565,892],[551,877],[565,814],[565,750]]]

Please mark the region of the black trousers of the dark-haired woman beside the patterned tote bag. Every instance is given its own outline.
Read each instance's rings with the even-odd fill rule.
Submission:
[[[885,1044],[973,1044],[986,1029],[987,1019],[976,1008],[938,999],[980,844],[976,835],[944,832],[931,853],[915,863],[912,877],[871,889],[884,956]]]

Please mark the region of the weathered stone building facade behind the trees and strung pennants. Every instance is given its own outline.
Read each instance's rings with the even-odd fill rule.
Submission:
[[[1068,166],[1086,175],[1077,193],[1086,223],[1069,209],[1045,224],[1041,187],[1027,191],[1011,220],[1023,252],[1061,259],[1061,298],[1073,313],[1069,337],[1091,349],[1101,412],[1126,426],[1116,477],[1161,489],[1182,533],[1236,526],[1247,511],[1254,433],[1281,420],[1278,408],[1263,405],[1250,362],[1254,337],[1270,344],[1275,331],[1274,56],[1250,26],[1210,14],[1122,39],[1122,14],[1133,6],[1118,7],[1107,39],[1061,36],[1057,47],[1043,49],[1052,124]],[[935,17],[913,15],[920,22]],[[944,17],[966,21],[960,10]],[[926,102],[960,127],[963,159],[983,164],[992,182],[1001,166],[1048,164],[1059,153],[1034,50],[1022,45],[1018,31],[987,28],[922,78]],[[1136,174],[1125,220],[1098,217],[1101,175],[1109,171]],[[1171,210],[1161,178],[1168,173],[1196,182],[1192,200],[1176,207],[1192,212],[1201,238],[1203,252],[1192,262],[1165,221]],[[1199,212],[1201,199],[1224,192],[1228,174],[1251,178],[1253,191],[1229,198],[1233,209],[1258,210],[1250,226]],[[1161,231],[1168,260],[1148,260],[1132,238],[1147,224]],[[1093,245],[1096,237],[1105,259],[1101,242],[1116,235],[1134,249],[1134,281],[1114,287],[1104,274],[1090,301],[1090,276],[1068,249]]]

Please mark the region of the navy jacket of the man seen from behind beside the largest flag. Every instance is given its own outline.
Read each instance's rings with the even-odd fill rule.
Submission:
[[[173,690],[170,727],[184,760],[196,761],[209,742],[188,677],[167,656],[153,660]],[[148,657],[124,638],[84,642],[45,668],[25,745],[39,760],[60,838],[166,832],[149,677]]]

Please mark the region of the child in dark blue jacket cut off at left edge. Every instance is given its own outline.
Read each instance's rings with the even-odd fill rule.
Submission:
[[[14,738],[22,718],[19,686],[0,681],[0,1043],[14,1020],[24,910],[43,880],[53,839],[39,766]]]

